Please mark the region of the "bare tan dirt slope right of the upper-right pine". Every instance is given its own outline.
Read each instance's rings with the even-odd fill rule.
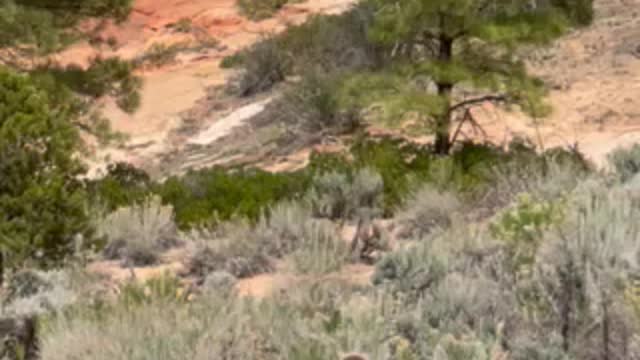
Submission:
[[[640,142],[640,0],[596,0],[596,21],[539,54],[532,70],[552,86],[554,112],[532,119],[477,109],[487,136],[529,136],[543,146],[577,145],[602,165],[618,146]]]

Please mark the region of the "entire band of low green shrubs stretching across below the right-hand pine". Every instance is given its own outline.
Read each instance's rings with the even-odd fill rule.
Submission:
[[[537,192],[556,197],[558,189],[570,188],[576,182],[577,173],[573,172],[573,160],[567,160],[553,166],[546,165],[547,172],[555,176],[553,182],[538,179],[535,174],[544,169],[545,156],[528,150],[505,152],[490,146],[463,144],[451,156],[441,158],[434,156],[427,147],[402,140],[365,138],[357,139],[346,153],[313,153],[307,168],[291,173],[214,167],[155,183],[134,168],[116,164],[108,169],[103,179],[89,182],[89,189],[109,210],[156,194],[164,203],[173,206],[176,222],[183,229],[202,224],[215,225],[233,217],[256,221],[269,206],[281,200],[302,198],[309,192],[316,193],[315,199],[311,196],[310,200],[325,217],[353,218],[362,207],[371,208],[374,212],[382,210],[382,215],[391,216],[420,184],[431,184],[439,192],[457,193],[461,200],[469,197],[486,199],[494,197],[489,195],[489,190],[495,190],[496,196],[502,191],[508,195],[504,196],[508,203],[513,195],[531,188],[527,184],[536,182]],[[540,167],[508,166],[501,174],[494,171],[496,164],[520,162],[540,164]],[[562,177],[560,172],[553,170],[556,168],[566,169]],[[363,171],[372,175],[361,173]],[[532,172],[535,176],[531,175]],[[511,175],[516,173],[523,178],[514,179]],[[331,177],[339,183],[333,181],[334,184],[326,184],[333,189],[325,186],[322,190],[318,181],[328,174],[333,174]],[[313,185],[314,177],[316,186]],[[566,184],[562,180],[565,185],[561,185],[560,179],[565,178]],[[511,189],[519,180],[522,180],[522,186]],[[381,192],[377,186],[382,186]],[[319,190],[324,193],[319,193]],[[371,193],[373,190],[375,193]],[[341,206],[349,209],[339,209]]]

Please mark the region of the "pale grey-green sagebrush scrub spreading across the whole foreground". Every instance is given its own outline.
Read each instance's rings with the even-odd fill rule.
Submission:
[[[88,291],[91,281],[77,269],[16,273],[6,309],[50,299],[39,310],[46,359],[635,358],[640,249],[633,182],[557,152],[519,156],[539,159],[548,171],[521,179],[522,190],[490,213],[472,199],[516,177],[517,166],[501,167],[491,172],[500,179],[467,191],[415,180],[390,214],[378,215],[402,234],[395,245],[379,247],[373,285],[324,277],[361,261],[338,232],[359,218],[348,209],[383,203],[384,176],[363,168],[349,177],[315,176],[304,196],[277,202],[254,222],[182,232],[190,272],[202,284],[195,288],[167,274],[125,284],[105,300]],[[566,169],[582,180],[567,181]],[[353,189],[365,175],[372,185]],[[276,270],[279,259],[303,280],[262,299],[235,292],[237,279],[283,271]]]

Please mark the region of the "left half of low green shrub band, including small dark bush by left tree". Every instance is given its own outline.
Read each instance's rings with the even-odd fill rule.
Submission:
[[[92,198],[109,210],[140,204],[150,195],[159,195],[174,207],[182,228],[232,217],[258,217],[280,200],[301,196],[310,182],[306,172],[272,174],[261,170],[210,168],[153,182],[142,170],[112,164],[106,176],[89,181]]]

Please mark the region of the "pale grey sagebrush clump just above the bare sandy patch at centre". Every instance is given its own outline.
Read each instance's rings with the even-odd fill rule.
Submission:
[[[230,222],[216,230],[196,229],[186,241],[191,273],[201,279],[216,271],[246,278],[273,270],[282,258],[291,259],[299,272],[325,273],[349,257],[336,226],[312,218],[307,206],[295,202],[276,204],[256,225]]]

